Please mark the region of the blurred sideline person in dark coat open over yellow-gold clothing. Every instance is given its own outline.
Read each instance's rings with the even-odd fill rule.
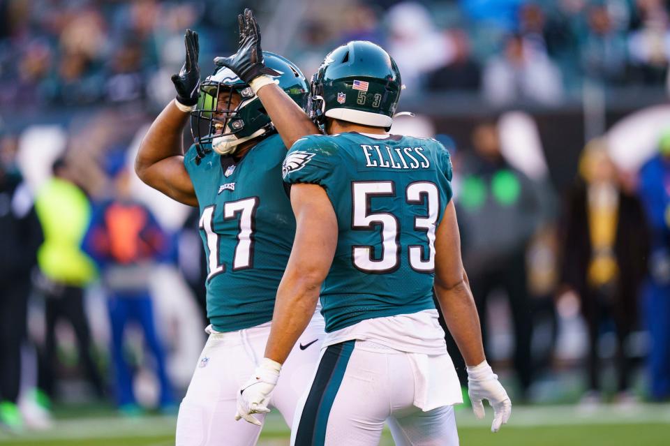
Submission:
[[[645,228],[641,202],[620,184],[604,141],[589,142],[579,161],[579,181],[567,200],[562,267],[563,283],[581,298],[588,327],[585,404],[602,401],[598,340],[609,320],[617,341],[617,400],[634,401],[625,345],[638,321],[638,295],[646,275]]]

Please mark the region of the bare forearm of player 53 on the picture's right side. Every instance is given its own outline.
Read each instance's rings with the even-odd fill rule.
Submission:
[[[455,284],[435,280],[435,295],[438,297],[449,333],[459,346],[466,364],[468,366],[481,364],[486,359],[482,345],[482,329],[479,325],[475,299],[470,292],[468,276],[463,272],[462,280]]]

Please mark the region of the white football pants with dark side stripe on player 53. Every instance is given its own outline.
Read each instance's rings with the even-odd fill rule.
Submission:
[[[415,406],[419,378],[410,355],[370,341],[325,348],[296,410],[291,445],[377,446],[388,422],[396,445],[457,446],[453,406]]]

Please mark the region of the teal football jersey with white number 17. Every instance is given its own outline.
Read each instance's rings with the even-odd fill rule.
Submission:
[[[191,147],[184,164],[200,205],[207,316],[219,332],[268,322],[295,237],[281,181],[284,144],[271,135],[237,163],[214,152],[195,163],[195,155]]]

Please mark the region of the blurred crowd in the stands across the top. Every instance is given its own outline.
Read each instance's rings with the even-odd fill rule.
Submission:
[[[481,91],[493,104],[560,103],[585,80],[667,84],[664,0],[324,1],[256,6],[267,50],[311,75],[332,47],[371,40],[389,50],[405,95]],[[201,63],[234,51],[241,1],[0,1],[3,107],[144,101],[158,106],[181,65],[184,29]],[[290,25],[294,25],[291,27]],[[275,38],[282,34],[282,38]],[[203,70],[203,73],[207,72]]]

